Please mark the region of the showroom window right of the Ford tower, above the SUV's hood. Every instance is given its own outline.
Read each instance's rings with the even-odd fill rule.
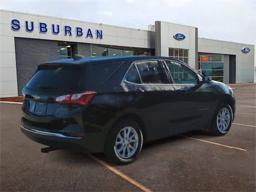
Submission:
[[[202,75],[212,80],[223,82],[224,55],[223,54],[199,54],[199,70]]]

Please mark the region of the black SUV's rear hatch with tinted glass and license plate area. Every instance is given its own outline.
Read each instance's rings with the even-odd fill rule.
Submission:
[[[74,121],[69,106],[56,102],[56,98],[83,91],[83,72],[79,64],[44,64],[22,90],[24,121],[33,126],[61,128],[60,122]],[[72,114],[72,113],[71,113]],[[58,119],[59,118],[59,119]],[[40,124],[38,124],[40,123]]]

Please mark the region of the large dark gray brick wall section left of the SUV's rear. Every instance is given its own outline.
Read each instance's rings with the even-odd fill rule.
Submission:
[[[58,42],[30,38],[15,38],[18,95],[37,69],[38,64],[57,60]]]

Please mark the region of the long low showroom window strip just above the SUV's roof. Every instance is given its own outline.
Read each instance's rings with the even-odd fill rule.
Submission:
[[[91,49],[92,49],[92,57],[154,55],[154,50],[147,49],[147,48],[127,48],[127,47],[120,47],[120,46],[91,45]]]

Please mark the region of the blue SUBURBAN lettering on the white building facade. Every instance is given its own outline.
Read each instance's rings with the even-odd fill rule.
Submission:
[[[11,29],[14,31],[19,31],[20,30],[20,21],[17,19],[13,19],[11,21]],[[58,24],[51,24],[51,30],[52,33],[54,35],[58,35],[60,33],[60,25]],[[27,32],[33,32],[34,31],[34,22],[33,21],[25,21],[25,30]],[[72,32],[72,28],[70,26],[63,26],[63,30],[64,30],[64,35],[66,36],[72,36],[73,32]],[[47,33],[48,32],[48,26],[46,23],[41,23],[39,22],[39,32],[40,33]],[[81,27],[76,27],[74,30],[74,33],[77,37],[82,37],[85,36],[86,38],[90,37],[90,38],[94,38],[94,35],[92,34],[92,30],[91,29],[87,29],[86,31],[84,31]],[[100,38],[102,39],[102,30],[98,30],[96,29],[95,31],[96,34],[96,39]]]

